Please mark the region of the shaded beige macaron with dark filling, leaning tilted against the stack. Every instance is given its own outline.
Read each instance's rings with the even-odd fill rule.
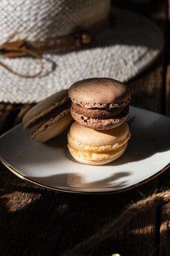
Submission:
[[[29,129],[31,138],[35,141],[47,141],[63,132],[73,122],[70,107],[68,90],[56,92],[24,115],[23,127]]]

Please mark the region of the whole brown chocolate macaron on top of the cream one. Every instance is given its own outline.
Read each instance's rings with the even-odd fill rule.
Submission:
[[[91,78],[73,83],[68,89],[71,115],[77,123],[96,130],[108,130],[126,121],[130,90],[111,78]]]

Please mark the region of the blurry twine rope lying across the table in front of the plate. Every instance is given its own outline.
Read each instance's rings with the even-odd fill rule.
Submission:
[[[85,254],[90,249],[97,246],[102,241],[106,240],[112,236],[116,231],[124,227],[132,218],[137,216],[141,212],[146,212],[152,207],[156,207],[159,204],[166,204],[170,202],[170,191],[161,192],[157,194],[152,194],[146,199],[142,199],[134,204],[128,206],[118,218],[113,220],[113,222],[105,225],[93,236],[89,237],[87,240],[75,245],[73,249],[66,251],[62,256],[78,255],[82,252]]]

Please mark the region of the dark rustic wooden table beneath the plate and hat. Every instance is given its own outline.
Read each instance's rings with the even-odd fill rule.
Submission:
[[[170,0],[131,9],[153,18],[165,38],[160,58],[128,83],[131,104],[170,116]],[[18,124],[30,108],[1,103],[0,134]],[[126,205],[169,187],[169,171],[124,193],[77,195],[25,182],[0,164],[0,255],[58,256],[119,216]],[[89,254],[115,252],[122,256],[169,256],[170,204],[137,216]]]

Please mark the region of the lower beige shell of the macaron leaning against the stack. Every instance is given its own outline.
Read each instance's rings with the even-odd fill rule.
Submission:
[[[32,139],[34,139],[37,142],[44,142],[49,139],[52,139],[53,137],[57,136],[66,128],[71,125],[73,122],[73,118],[71,117],[70,112],[66,115],[64,115],[59,120],[55,121],[53,124],[45,128],[44,130],[40,130],[37,132],[37,135],[32,135]]]

